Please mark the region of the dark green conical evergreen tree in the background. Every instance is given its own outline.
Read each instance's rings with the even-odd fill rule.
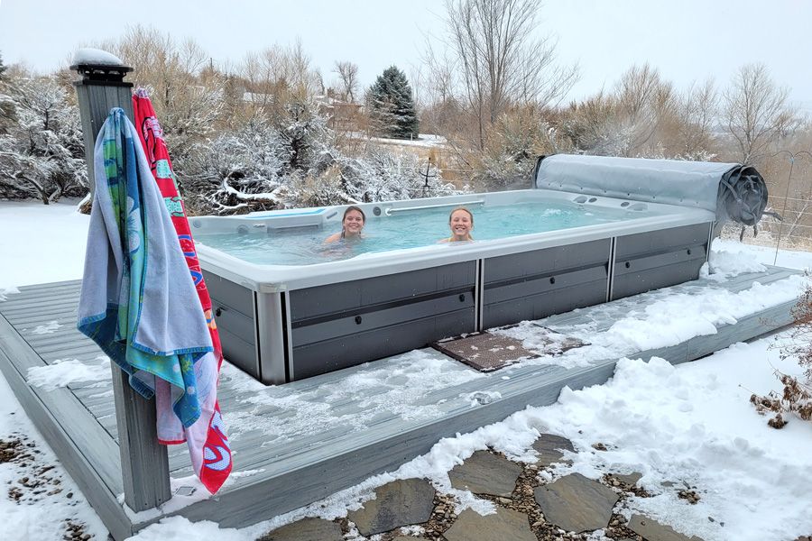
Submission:
[[[417,138],[418,118],[406,75],[392,66],[369,89],[370,118],[375,131],[396,139]]]

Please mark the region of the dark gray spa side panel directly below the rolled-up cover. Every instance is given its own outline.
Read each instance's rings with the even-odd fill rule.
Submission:
[[[710,224],[617,238],[612,300],[699,278]]]

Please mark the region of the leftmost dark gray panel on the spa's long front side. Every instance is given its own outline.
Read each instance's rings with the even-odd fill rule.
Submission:
[[[465,261],[291,291],[291,380],[472,332],[475,269]]]

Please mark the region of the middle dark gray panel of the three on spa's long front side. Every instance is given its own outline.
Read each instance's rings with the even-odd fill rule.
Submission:
[[[604,302],[609,247],[599,240],[484,260],[483,328]]]

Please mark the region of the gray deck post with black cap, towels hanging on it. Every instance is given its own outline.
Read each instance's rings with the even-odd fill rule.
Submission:
[[[93,149],[96,137],[113,107],[121,107],[133,120],[132,83],[124,82],[132,71],[124,65],[97,65],[79,62],[70,67],[82,79],[76,81],[79,115],[85,139],[90,188],[95,189]],[[158,443],[155,401],[145,400],[130,387],[128,376],[115,362],[113,397],[118,446],[121,451],[121,475],[125,502],[134,511],[158,507],[171,498],[169,461],[166,446]]]

